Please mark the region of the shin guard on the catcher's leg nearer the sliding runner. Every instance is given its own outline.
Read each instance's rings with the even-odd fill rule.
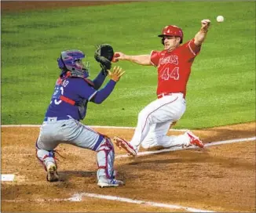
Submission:
[[[114,161],[115,151],[112,141],[105,137],[101,143],[101,146],[97,149],[97,165],[99,176],[106,176],[107,179],[112,179],[114,174]]]

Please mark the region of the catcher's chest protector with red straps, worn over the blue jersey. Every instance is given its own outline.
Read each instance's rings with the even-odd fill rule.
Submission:
[[[90,81],[89,79],[84,78],[82,75],[71,73],[70,71],[68,71],[65,74],[64,78],[59,78],[58,79],[57,85],[62,85],[64,83],[64,81],[68,78],[82,78],[84,81],[86,81],[86,83],[88,85],[90,85],[94,88],[93,81]],[[71,104],[72,106],[78,106],[79,107],[80,120],[83,120],[86,117],[85,112],[86,112],[86,106],[87,106],[87,103],[88,103],[88,99],[81,99],[79,101],[75,101],[75,100],[69,99],[68,97],[63,96],[63,95],[60,95],[59,99],[64,101],[65,103]]]

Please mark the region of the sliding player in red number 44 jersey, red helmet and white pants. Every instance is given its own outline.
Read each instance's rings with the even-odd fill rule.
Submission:
[[[138,114],[137,127],[130,143],[119,137],[114,142],[133,156],[142,146],[144,149],[154,146],[199,146],[202,141],[192,132],[183,135],[167,136],[169,128],[185,113],[186,86],[192,63],[199,54],[206,38],[210,20],[202,20],[201,28],[195,38],[181,45],[183,32],[180,27],[168,25],[159,34],[163,51],[153,50],[150,55],[128,56],[115,52],[115,60],[128,60],[140,65],[152,65],[158,70],[157,98]]]

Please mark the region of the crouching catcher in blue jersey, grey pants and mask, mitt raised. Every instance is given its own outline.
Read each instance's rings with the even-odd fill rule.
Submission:
[[[46,110],[46,116],[36,142],[36,156],[47,171],[46,179],[55,182],[60,179],[55,161],[55,148],[67,143],[97,152],[97,185],[100,187],[121,186],[124,183],[115,179],[115,152],[111,139],[82,125],[86,117],[87,103],[100,104],[107,99],[115,84],[123,76],[120,67],[112,67],[114,51],[111,45],[99,45],[95,60],[101,71],[93,81],[88,79],[89,66],[82,63],[85,54],[80,50],[66,50],[57,59],[60,77],[57,79],[53,96]],[[101,88],[106,77],[110,80]],[[99,89],[101,88],[101,89]]]

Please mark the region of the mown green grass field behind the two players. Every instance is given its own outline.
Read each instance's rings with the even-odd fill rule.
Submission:
[[[218,15],[224,23],[216,22]],[[133,2],[2,14],[2,125],[42,123],[60,51],[86,52],[94,78],[100,70],[95,45],[148,54],[163,48],[157,35],[164,26],[180,26],[188,41],[204,18],[212,23],[177,128],[255,121],[255,2]],[[135,126],[138,112],[155,99],[155,67],[118,65],[125,76],[104,103],[89,104],[86,125]]]

